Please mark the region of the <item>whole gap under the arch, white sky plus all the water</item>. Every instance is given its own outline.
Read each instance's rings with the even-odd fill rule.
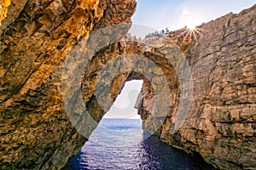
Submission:
[[[69,169],[200,169],[206,163],[165,144],[143,130],[138,116],[146,79],[125,82],[109,111],[82,149],[63,170]],[[144,84],[143,84],[144,83]],[[136,107],[136,108],[134,108]],[[201,162],[201,164],[198,164]]]

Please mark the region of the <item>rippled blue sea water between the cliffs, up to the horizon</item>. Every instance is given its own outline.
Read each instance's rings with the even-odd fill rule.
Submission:
[[[87,169],[214,169],[144,133],[141,120],[102,119],[83,148],[63,170]]]

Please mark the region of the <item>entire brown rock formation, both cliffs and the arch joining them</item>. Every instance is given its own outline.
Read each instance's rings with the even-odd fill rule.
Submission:
[[[85,120],[99,122],[132,79],[144,81],[137,107],[145,130],[200,153],[216,167],[256,167],[256,7],[211,21],[184,41],[180,31],[146,42],[124,41],[120,38],[129,28],[124,25],[90,42],[92,31],[129,23],[135,7],[131,0],[11,2],[0,30],[1,167],[63,167],[84,144],[80,133],[90,135],[95,127],[83,125],[80,111],[86,108]],[[115,41],[109,37],[113,32]],[[107,45],[90,58],[78,58],[90,51],[89,42]],[[74,77],[83,59],[88,63],[80,81]],[[186,71],[194,88],[186,88],[190,79],[180,77]],[[79,100],[83,107],[63,105]],[[185,117],[181,103],[191,104]],[[177,121],[183,126],[173,131]]]

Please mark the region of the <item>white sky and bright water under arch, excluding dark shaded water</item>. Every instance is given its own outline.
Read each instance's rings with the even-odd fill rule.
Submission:
[[[141,155],[142,160],[145,153],[137,145],[149,136],[143,132],[137,111],[142,88],[143,80],[125,82],[88,141],[63,169],[122,169],[130,168],[132,164],[140,167],[137,156]]]

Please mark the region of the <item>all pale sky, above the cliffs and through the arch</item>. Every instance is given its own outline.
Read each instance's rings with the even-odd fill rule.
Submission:
[[[230,12],[238,14],[255,3],[256,0],[137,0],[131,33],[144,37],[148,32],[160,31],[166,27],[175,31],[185,26],[199,26]],[[104,118],[140,118],[134,105],[142,83],[126,82],[125,88]]]

